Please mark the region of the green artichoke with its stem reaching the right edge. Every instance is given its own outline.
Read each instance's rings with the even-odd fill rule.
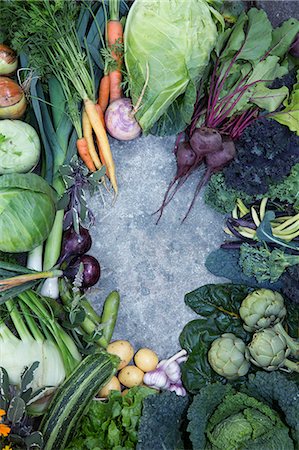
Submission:
[[[273,328],[266,328],[253,335],[248,345],[250,361],[262,369],[272,371],[280,367],[288,367],[299,372],[298,364],[287,359],[290,349],[283,336]]]

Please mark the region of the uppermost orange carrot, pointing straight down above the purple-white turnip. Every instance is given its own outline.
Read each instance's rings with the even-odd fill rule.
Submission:
[[[116,16],[115,16],[116,17]],[[123,43],[123,26],[117,19],[111,18],[107,24],[107,38],[108,46],[111,48],[111,56],[116,61],[116,69],[109,73],[110,80],[110,103],[122,96],[121,81],[122,81],[122,52],[120,46]]]

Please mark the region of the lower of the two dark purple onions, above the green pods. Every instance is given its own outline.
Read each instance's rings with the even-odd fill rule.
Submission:
[[[78,274],[80,264],[83,264],[82,288],[94,286],[101,276],[101,267],[98,260],[91,255],[83,255],[80,258],[73,259],[64,270],[64,275],[73,281]]]

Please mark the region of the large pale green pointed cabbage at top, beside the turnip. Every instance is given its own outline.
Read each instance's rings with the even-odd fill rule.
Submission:
[[[157,134],[175,134],[190,123],[217,40],[217,20],[223,23],[207,0],[133,3],[125,27],[125,63],[134,105],[148,75],[136,115],[144,132],[156,124]]]

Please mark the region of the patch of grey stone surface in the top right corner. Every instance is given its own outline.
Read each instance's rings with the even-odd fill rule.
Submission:
[[[298,0],[258,0],[255,2],[259,8],[263,8],[274,26],[281,22],[295,17],[299,19],[299,1]]]

